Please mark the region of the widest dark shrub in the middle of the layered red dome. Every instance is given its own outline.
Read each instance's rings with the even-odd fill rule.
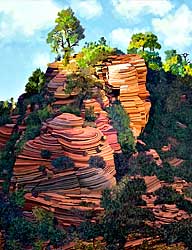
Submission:
[[[52,160],[52,165],[58,170],[64,170],[75,167],[73,160],[68,156],[61,156]]]

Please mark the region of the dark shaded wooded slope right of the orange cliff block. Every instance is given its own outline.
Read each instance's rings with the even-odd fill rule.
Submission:
[[[179,168],[169,168],[169,175],[191,181],[191,77],[181,78],[163,70],[149,70],[147,80],[152,108],[141,138],[150,148],[155,148],[159,152],[164,162],[169,162],[173,158],[183,159],[184,162]],[[171,149],[162,152],[161,148],[169,144]]]

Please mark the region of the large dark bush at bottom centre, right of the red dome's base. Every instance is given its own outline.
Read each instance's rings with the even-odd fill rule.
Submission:
[[[130,180],[128,177],[124,177],[113,189],[103,191],[101,206],[105,212],[101,224],[107,247],[114,245],[114,249],[124,249],[129,234],[143,237],[152,234],[145,221],[154,221],[153,213],[137,207],[145,204],[141,199],[145,192],[144,180]]]

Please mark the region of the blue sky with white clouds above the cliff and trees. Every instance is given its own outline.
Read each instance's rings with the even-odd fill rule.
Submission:
[[[0,0],[0,100],[17,98],[32,71],[54,59],[46,36],[68,6],[85,28],[80,46],[105,36],[126,51],[133,33],[152,31],[161,54],[171,48],[192,54],[191,0]]]

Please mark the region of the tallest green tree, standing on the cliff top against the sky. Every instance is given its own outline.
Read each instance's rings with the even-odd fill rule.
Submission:
[[[71,8],[60,11],[55,22],[55,28],[48,33],[47,43],[54,53],[63,55],[67,64],[73,48],[85,37],[84,29]]]

